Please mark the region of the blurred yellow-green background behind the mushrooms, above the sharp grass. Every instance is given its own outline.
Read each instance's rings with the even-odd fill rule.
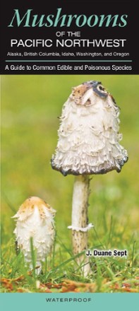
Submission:
[[[57,143],[58,117],[71,87],[88,80],[102,81],[121,107],[121,144],[129,156],[120,174],[92,176],[89,221],[107,247],[128,248],[138,240],[139,77],[14,75],[1,77],[2,243],[13,237],[11,216],[20,204],[28,196],[40,196],[56,209],[57,233],[67,247],[71,245],[67,226],[74,177],[52,170],[50,159]],[[90,245],[96,238],[93,234],[90,230]]]

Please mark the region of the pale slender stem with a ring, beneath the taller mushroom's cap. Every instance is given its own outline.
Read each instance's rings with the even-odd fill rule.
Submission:
[[[89,196],[90,179],[88,175],[75,176],[73,186],[72,204],[72,235],[73,254],[87,250],[87,206]],[[76,228],[74,230],[74,228]],[[83,230],[82,230],[83,228]],[[77,264],[82,265],[83,276],[90,274],[90,263],[85,254],[76,259]]]

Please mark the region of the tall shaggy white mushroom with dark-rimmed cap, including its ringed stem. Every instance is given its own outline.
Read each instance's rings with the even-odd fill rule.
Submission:
[[[87,250],[89,175],[121,171],[128,160],[119,144],[119,107],[101,82],[87,81],[73,88],[60,117],[59,141],[52,168],[64,176],[75,175],[72,204],[73,253]],[[83,263],[83,256],[77,259]],[[83,274],[90,274],[85,258]]]

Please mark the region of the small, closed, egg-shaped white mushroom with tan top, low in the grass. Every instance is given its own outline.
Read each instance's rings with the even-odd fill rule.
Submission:
[[[25,262],[32,269],[32,255],[30,238],[36,252],[37,274],[42,270],[41,263],[45,261],[47,254],[54,244],[54,215],[56,211],[49,204],[37,196],[26,199],[12,218],[17,218],[16,244],[23,252]]]

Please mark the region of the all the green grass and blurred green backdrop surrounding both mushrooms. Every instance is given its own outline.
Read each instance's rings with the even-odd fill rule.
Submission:
[[[37,279],[43,285],[65,279],[91,283],[96,292],[138,291],[138,76],[15,75],[2,76],[1,80],[1,276],[12,283],[13,292],[20,288],[44,291],[37,288]],[[120,174],[97,175],[90,182],[88,213],[95,227],[88,233],[88,244],[90,249],[128,250],[128,257],[91,257],[93,274],[83,278],[75,265],[71,230],[67,229],[71,225],[74,178],[52,170],[50,159],[56,147],[61,107],[71,87],[87,80],[102,81],[121,107],[121,144],[129,155]],[[23,254],[16,255],[11,218],[20,204],[34,195],[57,211],[54,250],[40,276],[28,274]],[[16,278],[19,281],[13,281]],[[10,288],[3,283],[1,291]]]

